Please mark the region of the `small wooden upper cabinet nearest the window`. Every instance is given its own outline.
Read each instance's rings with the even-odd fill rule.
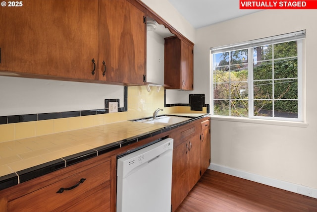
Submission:
[[[178,37],[165,38],[164,84],[166,89],[194,89],[194,45]]]

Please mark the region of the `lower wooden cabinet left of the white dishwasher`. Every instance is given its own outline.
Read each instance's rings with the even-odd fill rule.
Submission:
[[[0,211],[110,212],[111,160],[101,157],[9,188]]]

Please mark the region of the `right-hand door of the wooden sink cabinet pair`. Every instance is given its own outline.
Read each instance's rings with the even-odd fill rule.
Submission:
[[[201,142],[199,133],[188,141],[188,191],[190,191],[201,177]]]

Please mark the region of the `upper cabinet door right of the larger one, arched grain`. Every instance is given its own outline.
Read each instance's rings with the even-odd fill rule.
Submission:
[[[105,80],[144,84],[144,11],[127,0],[100,2],[100,62],[105,61]],[[102,72],[105,71],[105,66],[101,64]]]

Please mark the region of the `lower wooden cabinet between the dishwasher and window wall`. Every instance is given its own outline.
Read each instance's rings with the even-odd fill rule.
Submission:
[[[190,190],[206,171],[210,164],[210,139],[205,136],[201,141],[202,132],[209,133],[210,124],[202,131],[203,123],[210,118],[198,120],[192,124],[180,127],[170,134],[174,139],[173,172],[172,172],[172,212],[176,211]],[[210,134],[209,134],[210,135]],[[209,137],[210,138],[210,137]],[[208,155],[209,152],[209,155]],[[204,166],[203,166],[204,165]],[[205,169],[206,168],[206,169]]]

